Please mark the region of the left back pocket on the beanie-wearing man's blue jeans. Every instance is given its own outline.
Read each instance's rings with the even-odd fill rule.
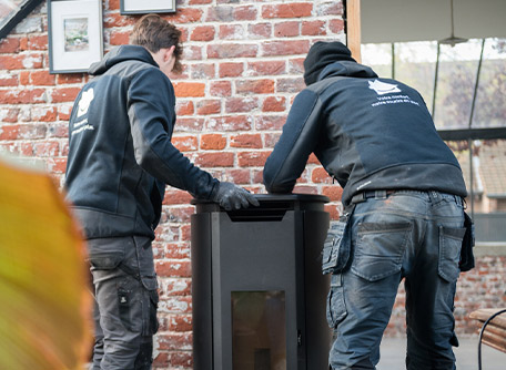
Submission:
[[[368,281],[401,271],[411,229],[407,222],[360,224],[352,271]]]

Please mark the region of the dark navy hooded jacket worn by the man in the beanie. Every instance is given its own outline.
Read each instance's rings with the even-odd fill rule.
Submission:
[[[264,167],[270,193],[292,192],[311,153],[343,187],[466,196],[457,160],[417,91],[353,61],[328,64],[294,100]]]

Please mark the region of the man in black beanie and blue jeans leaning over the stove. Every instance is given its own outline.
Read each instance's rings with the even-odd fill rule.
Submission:
[[[291,193],[314,153],[343,187],[344,213],[323,250],[332,274],[330,369],[375,369],[405,279],[409,370],[455,369],[454,296],[466,187],[417,91],[316,42],[264,167],[270,193]]]

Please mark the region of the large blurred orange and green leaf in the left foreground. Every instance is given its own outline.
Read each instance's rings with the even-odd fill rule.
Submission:
[[[83,241],[53,181],[0,162],[0,369],[82,369]]]

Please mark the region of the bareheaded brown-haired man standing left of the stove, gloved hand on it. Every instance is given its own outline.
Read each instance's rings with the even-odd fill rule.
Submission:
[[[91,65],[69,124],[65,187],[88,239],[95,289],[93,369],[151,369],[158,284],[151,240],[165,184],[225,209],[257,205],[219,182],[171,143],[181,32],[159,16],[141,18],[131,45]]]

